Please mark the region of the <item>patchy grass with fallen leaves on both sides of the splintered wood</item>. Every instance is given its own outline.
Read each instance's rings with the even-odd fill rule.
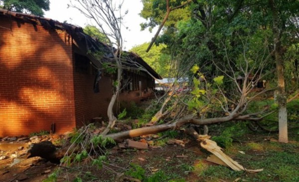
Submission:
[[[290,143],[284,144],[268,140],[268,133],[256,135],[249,131],[240,136],[237,142],[224,148],[226,154],[245,168],[263,168],[264,171],[259,173],[236,172],[205,161],[210,153],[200,149],[195,140],[191,140],[185,147],[167,144],[166,140],[162,140],[162,148],[144,151],[125,149],[110,155],[109,159],[111,164],[126,168],[127,177],[142,182],[234,182],[236,179],[239,182],[299,182],[298,132],[299,128],[292,129]],[[163,134],[167,134],[168,139],[172,138],[169,133]],[[177,139],[186,139],[185,135],[175,135]],[[272,138],[275,137],[276,134],[272,134]],[[113,173],[101,170],[101,174],[106,176],[101,181],[113,182]],[[90,178],[80,177],[85,180]]]

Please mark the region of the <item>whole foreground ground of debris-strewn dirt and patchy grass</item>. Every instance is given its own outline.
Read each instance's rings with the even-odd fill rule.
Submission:
[[[166,133],[167,134],[167,133]],[[55,141],[51,135],[39,136],[39,140]],[[57,137],[56,137],[57,138]],[[177,140],[174,140],[177,139]],[[233,145],[224,152],[247,169],[261,169],[259,173],[234,172],[227,167],[206,161],[209,152],[200,148],[198,141],[182,132],[175,137],[148,136],[151,147],[147,150],[119,148],[107,149],[108,158],[102,169],[91,165],[88,159],[79,166],[70,166],[62,171],[58,182],[115,182],[117,173],[124,173],[119,181],[129,182],[299,182],[299,130],[290,130],[290,142],[277,142],[277,134],[254,133],[248,131],[245,135],[235,138]],[[33,140],[36,140],[33,139]],[[25,142],[10,143],[10,147],[0,145],[1,156],[9,158],[0,160],[0,182],[41,182],[45,179],[52,182],[58,167],[38,157],[26,158],[22,154]],[[9,143],[6,141],[6,143]],[[55,143],[55,142],[54,142]],[[8,145],[8,146],[9,146]],[[11,145],[16,145],[11,147]],[[5,151],[7,150],[7,151]],[[12,159],[14,151],[20,155]],[[10,158],[12,157],[12,158]],[[12,165],[13,162],[21,162]],[[80,172],[82,166],[89,164],[88,171]],[[52,174],[52,175],[51,175]],[[54,175],[53,175],[54,174]],[[93,176],[91,176],[91,175]],[[51,178],[48,176],[51,175]]]

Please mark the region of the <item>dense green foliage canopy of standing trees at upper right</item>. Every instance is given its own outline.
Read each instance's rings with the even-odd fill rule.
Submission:
[[[166,12],[163,8],[165,1],[143,1],[145,7],[141,15],[150,20],[146,25],[161,23],[161,17]],[[171,1],[172,4],[183,2]],[[200,65],[199,71],[206,80],[212,82],[223,73],[231,78],[244,78],[248,72],[242,68],[248,67],[252,76],[261,78],[263,74],[268,85],[278,85],[279,108],[284,108],[280,111],[287,116],[286,94],[298,92],[298,74],[295,73],[298,61],[295,55],[298,53],[299,1],[194,0],[183,9],[188,11],[186,17],[169,18],[164,24],[164,32],[156,39],[157,44],[164,43],[171,48],[175,55],[173,59],[183,55],[178,69],[193,60],[194,64]],[[263,64],[262,60],[266,58],[271,59],[273,64],[267,64],[258,71],[257,66]],[[284,66],[289,69],[285,71]],[[286,87],[284,76],[291,80],[286,82]],[[226,78],[223,83],[226,86],[225,97],[232,99],[235,96],[234,83]],[[285,88],[289,90],[285,91]]]

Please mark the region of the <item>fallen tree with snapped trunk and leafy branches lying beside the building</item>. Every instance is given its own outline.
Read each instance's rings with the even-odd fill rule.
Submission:
[[[111,4],[110,0],[105,0],[104,2],[108,6]],[[112,12],[112,9],[107,11],[107,13]],[[114,15],[113,18],[115,18]],[[116,20],[119,19],[116,18]],[[116,33],[119,34],[120,31]],[[121,36],[116,37],[118,37],[119,41],[122,40]],[[182,127],[185,127],[187,134],[198,138],[199,133],[194,132],[193,126],[204,126],[205,134],[207,134],[207,126],[211,124],[229,121],[260,121],[273,111],[268,107],[261,111],[250,113],[247,109],[250,103],[257,99],[258,96],[273,89],[256,89],[257,85],[267,74],[264,68],[272,53],[267,52],[269,50],[268,45],[265,45],[264,50],[256,50],[258,51],[257,53],[251,51],[250,54],[247,53],[247,48],[245,44],[244,52],[240,53],[241,59],[238,60],[239,62],[231,61],[228,56],[222,64],[214,62],[219,72],[223,73],[223,75],[215,76],[214,78],[205,78],[205,75],[200,71],[200,67],[194,63],[196,62],[195,60],[189,60],[188,65],[178,66],[180,70],[176,70],[176,79],[189,77],[189,91],[178,92],[176,88],[183,87],[183,83],[168,83],[169,91],[166,92],[164,97],[160,98],[162,104],[158,102],[160,103],[158,112],[142,127],[118,133],[109,133],[111,128],[120,122],[114,115],[112,108],[117,100],[118,93],[124,86],[120,84],[122,79],[120,76],[121,70],[129,65],[136,70],[146,71],[151,75],[137,61],[130,59],[126,54],[122,54],[122,46],[119,46],[116,52],[112,48],[114,60],[116,61],[111,66],[118,70],[118,77],[115,94],[109,105],[109,122],[106,128],[102,129],[99,134],[99,132],[95,132],[95,129],[98,128],[94,128],[94,125],[84,126],[77,132],[74,132],[60,148],[49,142],[34,144],[29,150],[29,156],[40,156],[50,162],[60,163],[60,166],[69,166],[75,162],[79,163],[86,158],[97,163],[109,165],[103,160],[107,155],[105,147],[109,143],[121,143],[128,138],[156,134],[167,130],[177,130]],[[225,46],[223,49],[227,50]],[[179,63],[180,61],[177,61],[177,64]],[[224,81],[226,84],[224,84]],[[150,126],[147,126],[147,124]],[[200,142],[204,142],[204,140],[202,139]]]

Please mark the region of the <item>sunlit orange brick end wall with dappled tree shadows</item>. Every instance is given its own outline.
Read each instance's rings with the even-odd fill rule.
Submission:
[[[0,136],[75,126],[71,39],[0,16]]]

